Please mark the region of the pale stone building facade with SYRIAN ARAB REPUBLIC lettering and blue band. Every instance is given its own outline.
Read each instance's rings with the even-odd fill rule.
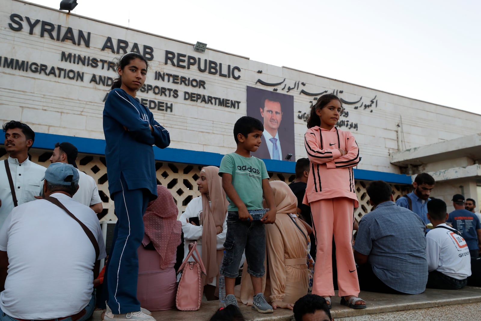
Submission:
[[[478,199],[478,154],[457,157],[456,150],[449,150],[453,156],[442,160],[435,155],[450,145],[443,142],[476,136],[481,115],[210,48],[198,52],[191,43],[21,0],[2,2],[0,121],[20,120],[37,133],[30,154],[44,166],[57,141],[76,145],[79,168],[98,182],[103,219],[115,219],[103,158],[103,103],[116,77],[115,59],[129,51],[149,61],[137,98],[170,132],[170,147],[155,149],[157,179],[171,190],[180,211],[198,195],[200,168],[218,166],[235,149],[235,121],[245,115],[264,120],[265,99],[280,102],[282,108],[281,160],[266,159],[266,167],[271,179],[292,180],[295,160],[306,156],[310,107],[324,93],[341,99],[344,112],[338,127],[353,132],[361,151],[362,161],[354,169],[358,218],[370,210],[365,193],[369,180],[392,183],[399,197],[421,171],[441,179],[439,171],[474,166],[461,176],[444,176],[436,185],[440,194],[433,194],[446,198],[463,186],[466,197]],[[425,146],[430,147],[427,152]],[[475,142],[468,147],[479,146]],[[418,151],[425,151],[424,158],[413,154]],[[6,157],[3,148],[0,156]]]

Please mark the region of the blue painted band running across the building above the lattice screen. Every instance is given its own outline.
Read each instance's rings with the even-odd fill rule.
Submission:
[[[105,154],[105,140],[72,137],[64,135],[36,133],[33,148],[52,150],[57,142],[68,141],[77,147],[79,153],[83,154]],[[189,151],[177,148],[154,148],[155,160],[170,163],[184,163],[193,165],[219,166],[224,155],[210,152]],[[267,171],[275,173],[295,173],[296,163],[291,161],[279,161],[265,159]],[[411,177],[404,174],[378,172],[366,169],[355,169],[356,180],[384,180],[390,183],[411,184]]]

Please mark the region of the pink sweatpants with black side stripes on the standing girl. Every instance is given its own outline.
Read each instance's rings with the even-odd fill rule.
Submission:
[[[317,241],[312,293],[334,295],[332,284],[332,235],[336,242],[339,296],[359,295],[353,254],[354,201],[347,197],[312,202],[313,230]]]

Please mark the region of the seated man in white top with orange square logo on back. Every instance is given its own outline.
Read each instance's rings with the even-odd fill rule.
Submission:
[[[431,289],[460,289],[471,275],[468,244],[458,231],[445,224],[448,217],[443,200],[428,202],[428,219],[433,229],[426,234],[429,271],[426,287]]]

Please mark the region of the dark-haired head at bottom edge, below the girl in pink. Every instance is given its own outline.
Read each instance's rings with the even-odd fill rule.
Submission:
[[[295,321],[334,321],[326,299],[316,294],[307,294],[294,304]]]

